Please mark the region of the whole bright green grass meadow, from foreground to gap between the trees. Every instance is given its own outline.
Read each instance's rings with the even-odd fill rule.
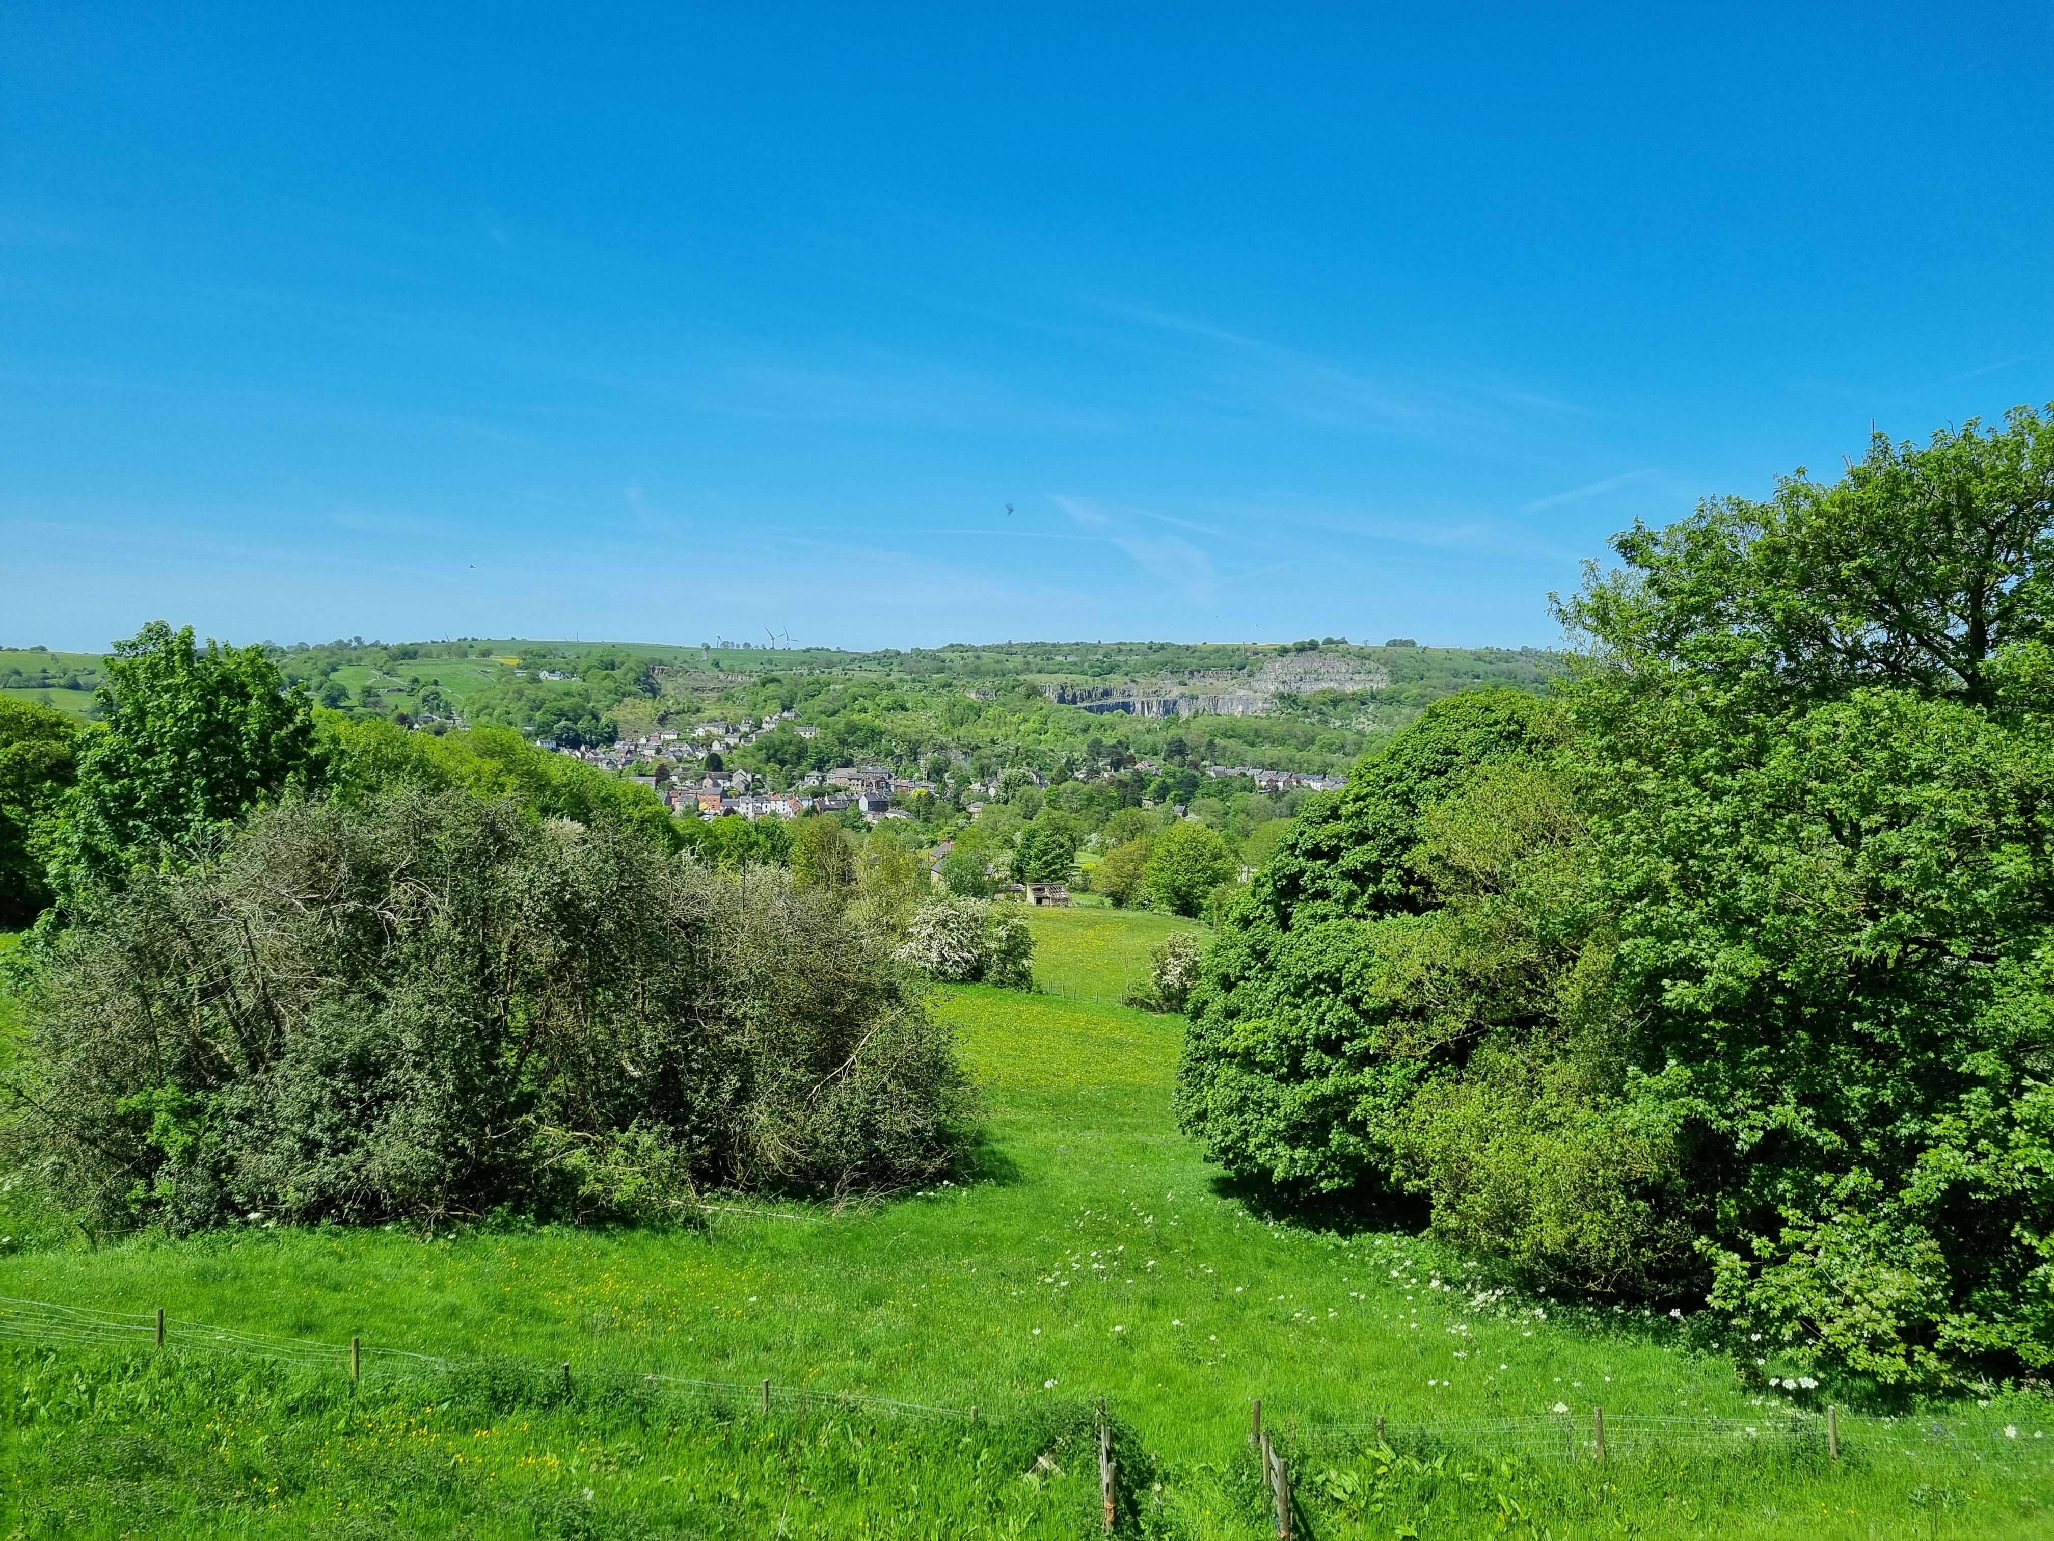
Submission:
[[[1105,988],[1154,941],[1101,914],[1033,912],[1050,984]],[[982,986],[937,1009],[986,1095],[976,1169],[840,1212],[92,1249],[8,1200],[0,1294],[173,1327],[0,1340],[0,1533],[1085,1537],[1103,1397],[1121,1535],[1253,1539],[1261,1397],[1306,1537],[2054,1535],[2054,1403],[1847,1416],[1830,1461],[1830,1389],[1742,1385],[1684,1323],[1267,1212],[1173,1126],[1179,1019]],[[316,1348],[257,1362],[185,1323]],[[1041,1453],[1060,1475],[1025,1479]]]

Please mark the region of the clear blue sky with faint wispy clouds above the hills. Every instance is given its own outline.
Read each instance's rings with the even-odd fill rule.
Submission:
[[[12,0],[0,643],[1549,643],[1635,516],[2054,397],[2050,45]]]

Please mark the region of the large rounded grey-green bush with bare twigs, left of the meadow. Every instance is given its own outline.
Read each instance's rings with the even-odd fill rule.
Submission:
[[[684,1212],[945,1169],[969,1089],[776,869],[403,789],[136,871],[27,997],[6,1142],[88,1229]]]

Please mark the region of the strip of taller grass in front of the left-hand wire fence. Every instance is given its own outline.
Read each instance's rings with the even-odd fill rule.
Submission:
[[[1136,1475],[1132,1436],[1117,1446]],[[1056,1473],[1023,1481],[1048,1453]],[[18,1537],[1074,1537],[1091,1410],[1004,1422],[464,1364],[370,1379],[177,1350],[0,1348]],[[1128,1483],[1124,1516],[1144,1504]],[[1134,1535],[1132,1518],[1121,1533]]]

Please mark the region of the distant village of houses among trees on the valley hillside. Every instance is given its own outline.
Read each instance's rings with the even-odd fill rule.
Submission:
[[[834,771],[807,771],[797,777],[795,785],[778,791],[758,787],[758,777],[750,771],[707,768],[700,771],[696,779],[692,779],[682,766],[672,771],[668,777],[657,773],[659,760],[665,764],[672,758],[694,758],[705,762],[709,754],[729,754],[744,744],[754,744],[764,734],[774,731],[781,723],[791,723],[799,738],[813,738],[820,731],[817,727],[793,721],[797,713],[781,711],[768,717],[744,717],[735,723],[711,721],[682,734],[659,731],[645,734],[637,740],[620,740],[610,748],[571,750],[559,748],[548,740],[542,740],[542,748],[555,748],[559,754],[569,754],[600,768],[622,773],[631,781],[653,787],[674,812],[696,812],[698,818],[705,820],[729,814],[748,820],[799,818],[801,814],[840,814],[854,807],[867,822],[877,824],[879,820],[891,818],[910,820],[914,816],[906,810],[906,803],[914,801],[920,793],[939,793],[933,781],[902,777],[885,764],[848,764]],[[649,768],[641,771],[641,766]],[[1136,760],[1128,768],[1154,773],[1161,766],[1154,760]],[[1029,775],[1035,785],[1048,785],[1048,777],[1037,771],[1027,771],[1025,775]],[[1101,775],[1109,779],[1113,773],[1105,771]],[[1343,785],[1343,777],[1265,771],[1245,764],[1214,764],[1206,768],[1206,775],[1214,779],[1247,779],[1257,791],[1288,791],[1292,787],[1304,787],[1306,791],[1333,791]],[[963,785],[963,793],[972,799],[963,803],[963,812],[976,814],[984,803],[974,799],[996,797],[998,783],[972,781]]]

